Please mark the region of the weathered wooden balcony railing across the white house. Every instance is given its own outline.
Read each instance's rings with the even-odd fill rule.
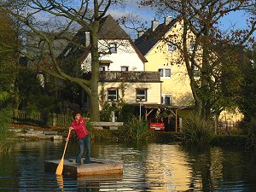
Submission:
[[[160,82],[159,72],[100,72],[100,81],[105,82]]]

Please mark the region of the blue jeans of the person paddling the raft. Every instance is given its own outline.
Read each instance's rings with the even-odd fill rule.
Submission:
[[[79,155],[76,158],[76,163],[81,163],[82,156],[84,154],[84,145],[86,147],[85,164],[90,163],[90,136],[89,134],[79,139]]]

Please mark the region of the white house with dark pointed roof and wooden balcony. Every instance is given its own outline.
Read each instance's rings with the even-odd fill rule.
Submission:
[[[83,44],[90,44],[90,33],[81,29],[77,36],[82,39]],[[103,94],[106,102],[119,102],[122,97],[125,102],[132,104],[160,104],[160,73],[145,72],[146,58],[111,15],[100,20],[99,53],[99,99]],[[84,74],[90,75],[89,51],[67,48],[64,55],[77,55]],[[122,86],[125,86],[125,93],[121,90]],[[84,106],[89,107],[89,102],[88,98],[85,99]]]

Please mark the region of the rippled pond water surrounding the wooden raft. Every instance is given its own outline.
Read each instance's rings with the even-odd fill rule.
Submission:
[[[123,175],[56,177],[44,160],[61,159],[65,141],[19,140],[0,154],[1,191],[256,191],[256,158],[238,148],[160,143],[91,143],[92,157],[118,160]],[[74,158],[69,142],[65,159]]]

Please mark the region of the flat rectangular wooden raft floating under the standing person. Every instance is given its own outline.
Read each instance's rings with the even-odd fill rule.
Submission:
[[[60,160],[45,160],[45,172],[55,172],[59,163]],[[90,164],[79,165],[74,159],[69,159],[64,160],[63,174],[72,176],[123,174],[123,164],[113,160],[90,158]]]

